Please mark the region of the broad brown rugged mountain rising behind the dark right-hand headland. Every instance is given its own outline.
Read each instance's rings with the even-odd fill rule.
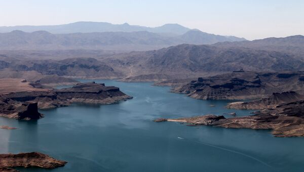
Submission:
[[[245,71],[304,70],[296,55],[248,48],[182,44],[155,51],[117,54],[103,60],[127,76],[166,74],[173,78],[211,76],[243,68]],[[153,78],[151,78],[153,79]]]

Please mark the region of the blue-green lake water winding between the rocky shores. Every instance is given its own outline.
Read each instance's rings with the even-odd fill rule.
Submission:
[[[118,86],[134,98],[115,105],[75,104],[40,110],[45,118],[37,121],[0,118],[0,125],[19,128],[0,129],[0,153],[37,151],[68,161],[66,166],[52,170],[18,168],[21,171],[304,169],[304,138],[277,138],[270,130],[191,127],[152,121],[161,117],[229,112],[243,116],[252,112],[223,108],[229,101],[198,100],[170,93],[169,87],[151,86],[153,83],[95,81]]]

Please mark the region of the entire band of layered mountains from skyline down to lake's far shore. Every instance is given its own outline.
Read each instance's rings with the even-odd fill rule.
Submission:
[[[11,31],[17,28],[24,30]],[[196,78],[241,68],[304,70],[303,36],[244,41],[178,24],[150,28],[98,22],[4,29],[11,32],[0,33],[2,70],[124,81]],[[83,32],[66,33],[73,31]]]

